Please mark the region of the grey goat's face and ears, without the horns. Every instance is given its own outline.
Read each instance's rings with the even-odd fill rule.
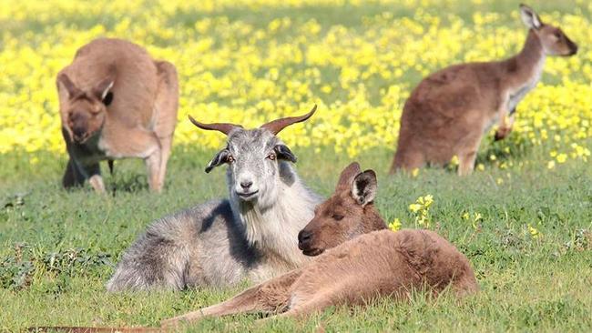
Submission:
[[[296,162],[296,156],[277,136],[263,128],[238,128],[230,132],[228,146],[214,156],[210,166],[229,165],[230,196],[266,206],[278,196],[281,161]]]

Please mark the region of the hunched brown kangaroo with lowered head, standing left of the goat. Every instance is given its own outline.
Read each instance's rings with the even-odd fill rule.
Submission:
[[[64,187],[88,180],[105,192],[99,161],[112,168],[114,159],[138,157],[146,161],[150,189],[159,192],[177,125],[175,66],[128,41],[99,38],[78,49],[56,85],[69,155]]]

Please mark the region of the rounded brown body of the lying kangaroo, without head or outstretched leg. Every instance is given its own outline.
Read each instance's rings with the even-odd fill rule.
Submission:
[[[473,269],[456,247],[427,230],[381,230],[327,250],[303,268],[294,289],[302,300],[331,292],[359,303],[402,297],[412,288],[440,292],[448,286],[463,293],[477,290]]]

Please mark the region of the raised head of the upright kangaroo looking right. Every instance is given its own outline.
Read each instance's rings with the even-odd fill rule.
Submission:
[[[558,26],[543,23],[532,8],[520,5],[520,15],[522,22],[538,36],[546,55],[569,56],[577,54],[577,44],[569,39]]]

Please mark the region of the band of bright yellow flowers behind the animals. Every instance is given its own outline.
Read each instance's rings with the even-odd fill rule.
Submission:
[[[473,0],[473,13],[449,10],[466,3],[0,2],[0,154],[65,150],[56,73],[78,47],[103,35],[145,45],[178,67],[175,145],[221,144],[220,136],[191,126],[189,114],[205,122],[258,126],[275,116],[301,114],[316,103],[320,112],[314,121],[282,136],[292,146],[332,146],[348,156],[375,146],[394,149],[404,100],[422,76],[458,62],[513,55],[524,42],[526,28],[517,6],[490,12],[486,1]],[[372,10],[352,24],[347,16],[341,23],[306,15],[311,6]],[[542,83],[518,106],[514,134],[497,148],[545,146],[543,163],[549,168],[567,158],[586,163],[592,136],[592,23],[587,15],[592,4],[576,1],[561,13],[539,7],[543,20],[562,26],[581,51],[547,60]],[[253,15],[236,18],[242,11]]]

